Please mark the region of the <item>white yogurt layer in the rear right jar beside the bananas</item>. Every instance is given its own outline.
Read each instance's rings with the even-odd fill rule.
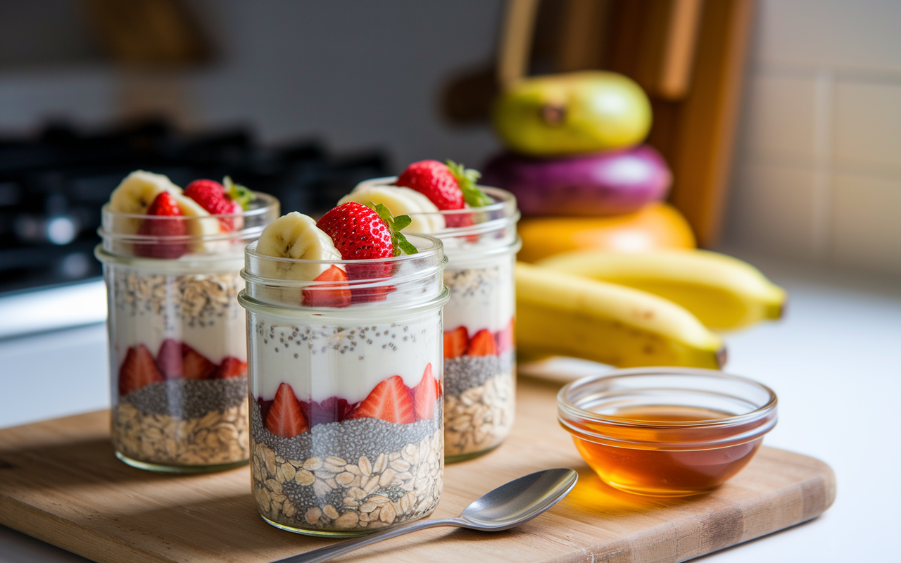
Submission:
[[[444,330],[466,327],[469,336],[505,329],[514,315],[513,260],[503,256],[487,268],[446,268],[444,285],[451,300],[444,305]]]

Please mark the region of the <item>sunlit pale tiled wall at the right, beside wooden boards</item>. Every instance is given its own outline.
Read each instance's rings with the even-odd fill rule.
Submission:
[[[724,243],[901,274],[901,2],[757,18]]]

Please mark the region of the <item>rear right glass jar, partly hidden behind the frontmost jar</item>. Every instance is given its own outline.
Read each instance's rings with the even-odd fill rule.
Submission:
[[[396,177],[371,185],[393,185]],[[410,213],[444,243],[444,459],[471,459],[495,449],[514,422],[516,364],[514,266],[522,242],[513,194],[479,186],[494,204]]]

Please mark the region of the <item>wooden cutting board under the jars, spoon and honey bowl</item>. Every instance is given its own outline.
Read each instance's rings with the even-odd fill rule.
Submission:
[[[683,561],[805,522],[835,498],[822,461],[761,448],[710,495],[651,499],[603,485],[556,421],[559,384],[520,378],[514,432],[480,459],[446,468],[434,517],[545,468],[579,473],[570,495],[517,529],[419,531],[337,561]],[[109,413],[0,430],[0,523],[96,561],[272,561],[331,542],[259,518],[250,471],[171,476],[114,458]]]

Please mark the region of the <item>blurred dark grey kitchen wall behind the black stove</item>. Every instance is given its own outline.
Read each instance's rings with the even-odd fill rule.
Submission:
[[[34,3],[0,3],[0,49],[16,50],[0,55],[0,133],[158,109],[189,128],[249,124],[262,141],[380,147],[396,167],[477,165],[496,147],[487,126],[450,128],[436,106],[452,73],[493,57],[503,0],[191,0],[219,57],[168,73],[104,63],[78,0]]]

